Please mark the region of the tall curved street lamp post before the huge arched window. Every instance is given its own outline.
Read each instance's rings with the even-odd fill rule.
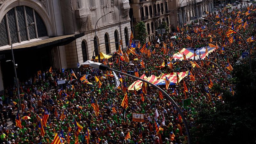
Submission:
[[[32,22],[32,23],[30,23],[28,26],[26,26],[26,27],[24,27],[24,28],[27,28],[27,27],[32,26],[32,25],[34,25],[34,24],[35,24],[35,23]],[[20,30],[19,30],[18,32],[16,32],[16,34],[13,35],[13,36],[16,36],[16,35],[17,35],[22,29],[24,29],[24,28],[20,28]],[[17,72],[16,72],[16,66],[17,66],[17,64],[15,64],[14,55],[13,55],[13,49],[12,49],[13,39],[14,39],[14,38],[12,38],[12,42],[11,42],[12,60],[6,60],[6,62],[12,61],[12,63],[13,63],[14,74],[15,74],[15,79],[16,79],[16,86],[17,86],[17,91],[18,91],[18,98],[19,98],[19,110],[21,110],[21,107],[20,107],[21,102],[20,102],[19,82],[18,82],[18,77],[17,77]],[[18,112],[19,112],[19,111],[18,111]]]

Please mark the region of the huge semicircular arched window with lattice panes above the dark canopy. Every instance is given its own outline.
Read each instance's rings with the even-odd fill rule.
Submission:
[[[32,22],[35,24],[25,28]],[[20,32],[16,34],[19,30]],[[0,46],[11,44],[12,39],[15,44],[43,36],[47,36],[44,21],[34,9],[28,6],[16,6],[12,8],[1,20]]]

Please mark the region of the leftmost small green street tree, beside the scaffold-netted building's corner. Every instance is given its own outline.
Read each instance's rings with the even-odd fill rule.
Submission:
[[[138,24],[135,27],[136,27],[136,30],[137,30],[136,38],[139,39],[140,44],[143,45],[146,42],[145,39],[148,36],[148,32],[147,32],[147,29],[146,29],[145,22],[140,21],[140,22],[138,22]]]

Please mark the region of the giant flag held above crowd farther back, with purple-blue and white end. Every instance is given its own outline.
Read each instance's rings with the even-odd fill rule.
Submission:
[[[174,58],[174,60],[177,60],[177,59],[183,60],[184,59],[183,55],[185,55],[186,59],[194,59],[194,56],[196,54],[196,56],[195,56],[196,60],[199,60],[200,57],[201,57],[201,59],[204,59],[205,56],[208,56],[208,54],[210,52],[213,52],[215,49],[216,49],[215,46],[210,47],[207,45],[207,52],[205,53],[206,46],[197,48],[196,52],[194,52],[193,47],[183,48],[180,52],[175,53],[173,55],[173,58]]]

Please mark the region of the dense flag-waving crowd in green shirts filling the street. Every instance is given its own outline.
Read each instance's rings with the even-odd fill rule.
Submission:
[[[248,10],[251,13],[245,15]],[[216,18],[217,15],[220,18]],[[244,22],[247,21],[246,27],[239,27],[241,23],[238,21],[238,15]],[[208,14],[206,18],[214,22],[223,21],[223,24],[228,26],[233,21],[234,27],[239,28],[239,32],[246,38],[254,36],[256,20],[254,6],[246,5],[232,11],[221,10],[216,14]],[[183,79],[188,87],[186,96],[182,84],[170,85],[168,89],[160,85],[179,105],[188,126],[194,127],[201,105],[207,104],[212,109],[216,103],[224,103],[222,93],[209,92],[211,90],[208,89],[208,79],[211,79],[213,84],[220,84],[223,89],[235,89],[234,85],[227,82],[227,79],[232,77],[232,71],[226,67],[228,62],[233,66],[242,52],[247,51],[245,43],[236,34],[232,34],[235,36],[233,43],[225,43],[228,38],[224,37],[223,40],[223,33],[228,29],[223,30],[224,28],[218,25],[204,26],[205,22],[199,22],[175,28],[163,40],[161,36],[159,37],[160,44],[157,40],[150,42],[148,47],[152,51],[155,49],[156,53],[150,56],[141,54],[140,48],[136,47],[135,51],[138,55],[130,53],[130,62],[120,60],[120,56],[115,53],[111,59],[106,60],[107,65],[126,73],[138,70],[139,76],[143,74],[159,76],[158,66],[161,66],[164,58],[172,60],[173,54],[182,48],[207,46],[211,35],[211,43],[217,43],[219,49],[209,53],[207,59],[216,62],[225,74],[209,63],[199,64],[200,68],[193,68],[189,62],[179,62],[173,63],[172,67],[162,69],[162,73],[167,74],[189,70],[195,76],[195,81],[191,81],[190,76]],[[187,35],[191,40],[187,39]],[[176,36],[177,39],[170,39],[171,36]],[[167,44],[167,52],[163,52],[163,43]],[[171,43],[173,46],[170,45]],[[159,46],[156,46],[158,44]],[[253,42],[250,46],[252,44]],[[220,52],[222,46],[225,48],[224,52]],[[141,58],[145,68],[140,65]],[[84,75],[87,76],[87,80],[80,81],[79,78]],[[99,82],[95,77],[99,78]],[[73,80],[68,84],[62,86],[57,84],[57,81],[70,78]],[[127,90],[134,79],[122,75],[119,78],[122,79],[120,81],[123,84],[121,89],[116,87],[111,71],[105,72],[91,67],[80,68],[73,74],[70,70],[65,73],[57,69],[51,72],[47,70],[42,75],[35,75],[20,83],[21,105],[19,105],[17,88],[7,87],[0,97],[0,143],[46,144],[54,140],[56,133],[63,143],[70,144],[172,144],[187,140],[181,116],[169,100],[166,98],[161,100],[158,90],[149,85],[146,87],[147,93],[143,94],[142,98],[141,90]],[[128,107],[125,109],[121,104],[126,92]],[[191,103],[184,107],[182,100],[185,97],[191,98]],[[15,109],[19,107],[21,110],[18,116]],[[144,122],[132,121],[132,113],[144,114],[142,118]],[[17,124],[19,119],[20,124]],[[13,123],[11,126],[8,126],[8,120]],[[156,123],[159,128],[156,128]],[[127,133],[130,134],[128,139],[126,139]]]

